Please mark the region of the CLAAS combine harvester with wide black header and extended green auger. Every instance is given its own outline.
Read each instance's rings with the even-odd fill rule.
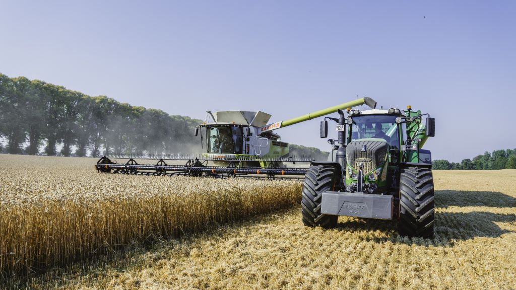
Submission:
[[[360,98],[337,106],[318,110],[290,120],[267,124],[271,115],[262,111],[207,112],[213,122],[198,125],[195,135],[201,133],[201,144],[206,152],[200,156],[103,156],[95,170],[105,173],[139,175],[188,175],[230,177],[266,175],[302,176],[308,168],[285,167],[284,163],[311,162],[310,158],[290,157],[288,143],[273,131],[303,121],[335,113],[337,110],[366,104],[376,107],[370,98]],[[200,131],[200,132],[199,132]],[[128,159],[117,163],[112,159]],[[137,160],[156,159],[156,164],[139,164]],[[186,160],[185,165],[169,165],[169,160]],[[208,161],[214,166],[208,166]],[[148,161],[146,161],[148,162]],[[255,175],[256,174],[256,175]]]

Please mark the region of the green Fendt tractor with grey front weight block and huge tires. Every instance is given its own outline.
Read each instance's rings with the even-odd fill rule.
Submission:
[[[320,137],[327,137],[329,119],[337,123],[338,140],[328,140],[327,162],[312,162],[307,170],[303,223],[331,228],[338,216],[396,219],[401,235],[433,237],[431,153],[421,148],[435,134],[434,118],[410,106],[338,114],[321,121]]]

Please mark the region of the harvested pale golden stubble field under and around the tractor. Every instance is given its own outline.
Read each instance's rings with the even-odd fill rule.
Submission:
[[[147,176],[126,177],[147,183]],[[306,228],[295,206],[135,243],[9,286],[516,289],[516,170],[434,171],[434,178],[433,239],[399,236],[395,222],[348,217],[335,229]]]

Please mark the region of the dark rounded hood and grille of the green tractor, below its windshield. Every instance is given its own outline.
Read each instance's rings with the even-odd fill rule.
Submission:
[[[346,147],[346,162],[354,170],[364,165],[364,174],[385,163],[388,144],[384,139],[367,138],[351,141]]]

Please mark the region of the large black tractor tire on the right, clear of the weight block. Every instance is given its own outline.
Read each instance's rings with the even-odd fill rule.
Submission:
[[[432,170],[423,167],[402,169],[399,196],[399,233],[432,238],[435,207]]]

